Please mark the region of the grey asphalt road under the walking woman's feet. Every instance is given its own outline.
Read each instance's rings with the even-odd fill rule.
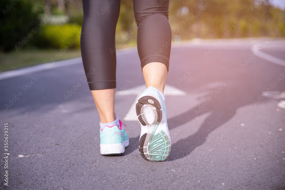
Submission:
[[[140,156],[139,122],[123,120],[137,97],[129,92],[144,85],[136,48],[117,51],[115,111],[130,138],[121,156],[100,155],[99,115],[81,58],[1,73],[1,188],[285,189],[285,109],[262,96],[285,91],[285,40],[213,43],[172,45],[165,92],[172,147],[164,162]],[[267,60],[253,56],[259,43]]]

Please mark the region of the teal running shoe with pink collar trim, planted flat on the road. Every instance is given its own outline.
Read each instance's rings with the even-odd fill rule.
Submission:
[[[100,129],[100,153],[102,155],[115,155],[125,152],[129,146],[128,134],[125,132],[125,124],[119,120],[119,126],[105,126]]]

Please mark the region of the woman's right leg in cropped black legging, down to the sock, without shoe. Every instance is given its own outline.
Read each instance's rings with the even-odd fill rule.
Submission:
[[[171,28],[169,0],[134,0],[137,46],[146,87],[163,93],[169,68]]]

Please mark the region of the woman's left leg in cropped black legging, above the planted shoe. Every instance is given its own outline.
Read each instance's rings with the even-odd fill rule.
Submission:
[[[120,0],[82,2],[84,19],[80,46],[84,71],[100,121],[109,123],[116,119],[116,53],[113,47]],[[92,72],[89,72],[91,69]]]

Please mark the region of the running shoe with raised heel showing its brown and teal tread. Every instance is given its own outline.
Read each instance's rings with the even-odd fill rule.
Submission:
[[[158,90],[148,87],[139,97],[136,111],[141,123],[139,152],[145,160],[164,161],[171,148],[166,108]]]

